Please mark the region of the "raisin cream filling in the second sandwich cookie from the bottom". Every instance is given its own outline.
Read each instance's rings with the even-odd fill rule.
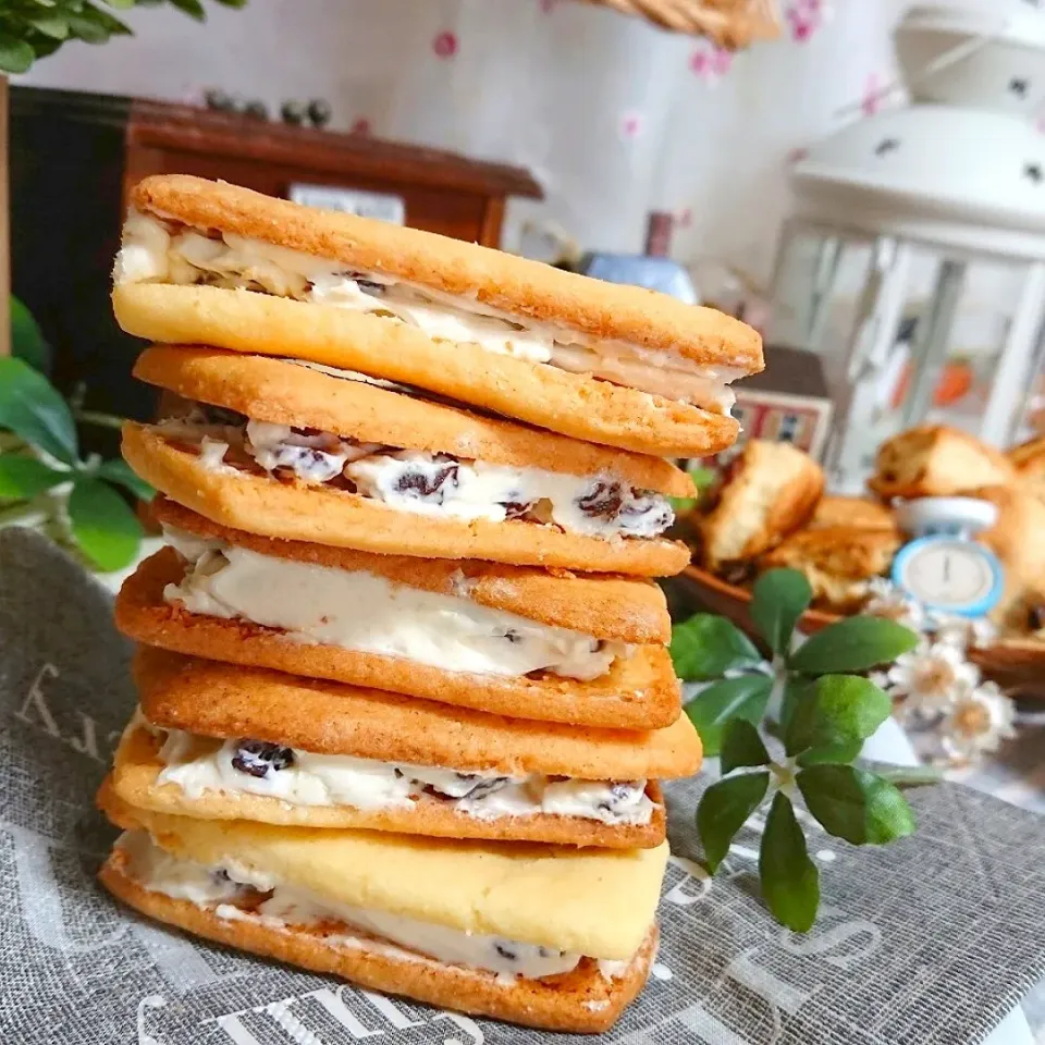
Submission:
[[[654,803],[646,780],[586,780],[315,754],[263,740],[217,740],[181,729],[167,734],[157,783],[197,800],[205,791],[263,795],[292,806],[410,809],[423,796],[476,820],[551,813],[603,824],[648,824]]]

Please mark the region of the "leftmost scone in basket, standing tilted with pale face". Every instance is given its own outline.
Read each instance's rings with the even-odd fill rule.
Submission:
[[[746,443],[701,520],[704,565],[717,571],[761,555],[806,522],[823,492],[823,470],[809,454],[790,443]]]

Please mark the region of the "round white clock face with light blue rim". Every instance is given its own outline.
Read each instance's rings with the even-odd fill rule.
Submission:
[[[983,614],[1001,592],[1001,569],[981,544],[929,537],[908,544],[894,564],[894,580],[919,602],[961,614]]]

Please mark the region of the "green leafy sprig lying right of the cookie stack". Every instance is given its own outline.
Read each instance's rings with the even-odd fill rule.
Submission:
[[[723,774],[697,809],[709,870],[717,870],[743,824],[769,806],[759,852],[762,895],[796,932],[812,926],[820,906],[820,872],[796,803],[828,834],[857,846],[914,831],[910,807],[888,774],[852,763],[892,710],[888,696],[855,673],[892,663],[914,648],[918,636],[892,620],[849,617],[797,644],[795,629],[811,598],[797,570],[759,578],[751,617],[772,652],[770,664],[724,617],[697,614],[672,635],[679,677],[710,684],[686,705]]]

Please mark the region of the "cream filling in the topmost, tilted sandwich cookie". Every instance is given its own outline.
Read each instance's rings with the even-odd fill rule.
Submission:
[[[579,331],[481,305],[472,297],[374,272],[346,271],[299,250],[235,233],[214,238],[176,221],[132,211],[123,228],[113,279],[125,283],[205,284],[259,291],[299,302],[370,312],[407,323],[440,341],[475,344],[487,352],[590,373],[683,403],[728,414],[738,367],[704,366],[673,352],[590,337]]]

